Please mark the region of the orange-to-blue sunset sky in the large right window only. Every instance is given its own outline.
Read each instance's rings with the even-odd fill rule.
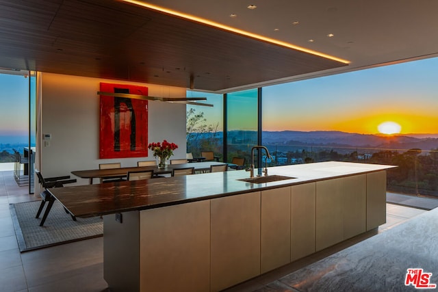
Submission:
[[[438,133],[438,58],[263,88],[263,130]]]

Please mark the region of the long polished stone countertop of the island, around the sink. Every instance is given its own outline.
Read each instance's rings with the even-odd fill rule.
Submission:
[[[249,172],[233,170],[144,181],[125,181],[99,185],[79,185],[49,189],[68,211],[77,217],[92,217],[127,211],[166,207],[198,200],[208,200],[251,191],[261,191],[312,181],[377,172],[392,165],[328,161],[268,168],[268,175],[293,178],[271,183],[246,183]],[[257,174],[257,169],[255,170]]]

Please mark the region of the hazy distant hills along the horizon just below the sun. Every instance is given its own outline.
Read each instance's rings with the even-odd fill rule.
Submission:
[[[263,144],[391,149],[420,148],[422,150],[438,148],[437,137],[418,136],[365,135],[341,131],[263,131]]]

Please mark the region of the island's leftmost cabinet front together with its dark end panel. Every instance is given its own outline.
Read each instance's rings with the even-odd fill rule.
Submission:
[[[104,216],[112,291],[209,291],[210,202]]]

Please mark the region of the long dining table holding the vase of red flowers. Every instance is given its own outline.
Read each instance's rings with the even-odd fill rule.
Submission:
[[[194,168],[195,172],[205,172],[210,169],[211,165],[222,165],[229,164],[218,161],[205,161],[205,162],[193,162],[193,163],[179,163],[179,164],[168,164],[166,168],[158,168],[157,165],[151,166],[133,166],[128,168],[110,168],[105,170],[74,170],[71,172],[75,176],[80,178],[88,178],[90,185],[93,183],[94,178],[104,178],[104,177],[123,177],[127,176],[128,172],[136,172],[141,170],[153,170],[154,175],[159,174],[171,174],[172,170],[175,168]]]

